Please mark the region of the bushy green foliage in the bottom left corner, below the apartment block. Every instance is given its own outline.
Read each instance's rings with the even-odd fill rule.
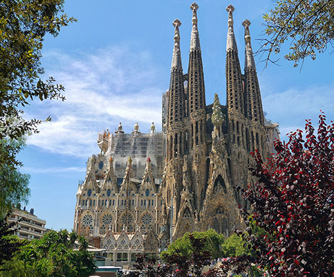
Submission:
[[[20,247],[12,259],[0,267],[0,276],[89,276],[96,267],[86,247],[86,240],[78,238],[75,233],[51,231],[43,238]]]

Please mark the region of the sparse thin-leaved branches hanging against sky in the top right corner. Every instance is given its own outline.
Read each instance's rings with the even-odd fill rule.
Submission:
[[[275,8],[263,17],[266,34],[260,51],[266,53],[266,64],[272,52],[280,53],[281,45],[289,42],[290,52],[286,60],[298,63],[306,57],[315,60],[316,53],[322,53],[333,46],[334,0],[278,0]]]

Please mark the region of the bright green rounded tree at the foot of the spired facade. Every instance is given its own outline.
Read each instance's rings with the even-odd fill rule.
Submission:
[[[165,254],[171,256],[174,254],[180,254],[189,260],[194,253],[194,247],[189,238],[190,233],[185,233],[182,238],[178,238],[175,242],[169,245],[166,251],[163,251],[162,258]],[[224,241],[224,236],[216,233],[213,229],[205,232],[194,232],[192,233],[194,238],[203,238],[205,240],[205,246],[203,251],[208,251],[212,258],[216,259],[221,257],[221,244]]]

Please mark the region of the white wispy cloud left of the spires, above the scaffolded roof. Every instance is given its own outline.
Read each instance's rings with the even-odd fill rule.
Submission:
[[[146,132],[152,121],[160,129],[165,89],[149,53],[113,47],[71,56],[53,51],[44,60],[47,75],[66,88],[66,101],[34,102],[26,111],[27,117],[53,117],[28,138],[28,145],[88,157],[98,151],[95,141],[101,129],[113,131],[122,122],[129,132],[138,122]]]

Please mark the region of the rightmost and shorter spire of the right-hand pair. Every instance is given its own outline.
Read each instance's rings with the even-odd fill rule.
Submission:
[[[245,27],[245,103],[246,116],[253,122],[264,125],[261,92],[255,67],[252,45],[250,44],[250,21],[243,21]]]

